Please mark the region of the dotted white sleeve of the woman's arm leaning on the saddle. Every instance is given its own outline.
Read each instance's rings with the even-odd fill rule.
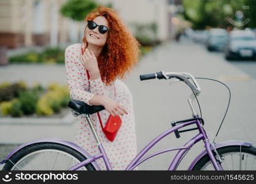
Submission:
[[[70,98],[91,105],[89,101],[93,98],[93,94],[83,88],[82,73],[79,71],[79,63],[75,61],[76,53],[72,52],[72,48],[74,47],[70,45],[65,49],[64,53]]]

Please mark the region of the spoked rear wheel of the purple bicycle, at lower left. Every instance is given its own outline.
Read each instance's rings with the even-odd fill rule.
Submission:
[[[85,159],[87,158],[79,151],[66,145],[42,142],[29,145],[15,153],[2,170],[65,171]],[[87,164],[78,170],[91,171],[96,169],[92,164]]]

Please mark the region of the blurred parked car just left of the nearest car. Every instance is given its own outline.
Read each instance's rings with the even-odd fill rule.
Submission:
[[[206,41],[209,51],[223,51],[228,41],[228,32],[225,29],[211,29]]]

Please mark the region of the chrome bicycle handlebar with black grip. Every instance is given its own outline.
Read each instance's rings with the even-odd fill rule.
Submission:
[[[198,85],[198,83],[195,80],[195,77],[193,75],[188,74],[186,72],[164,72],[160,71],[155,74],[144,74],[144,75],[139,75],[141,80],[149,80],[149,79],[172,79],[176,78],[179,79],[183,82],[185,82],[195,94],[199,94],[201,92],[201,88]],[[193,83],[192,84],[189,79],[192,79]]]

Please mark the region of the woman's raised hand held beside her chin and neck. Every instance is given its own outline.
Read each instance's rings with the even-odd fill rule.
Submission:
[[[80,60],[82,62],[83,67],[85,67],[85,69],[87,69],[89,72],[99,72],[97,58],[92,50],[89,51],[88,48],[86,48],[83,55],[81,53]]]

